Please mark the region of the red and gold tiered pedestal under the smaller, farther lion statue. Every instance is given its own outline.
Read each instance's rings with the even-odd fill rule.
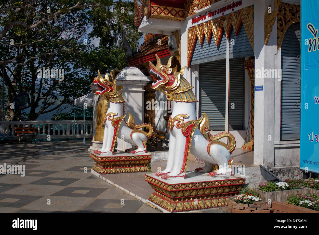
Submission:
[[[100,154],[91,153],[91,158],[96,162],[93,170],[100,175],[145,172],[149,170],[152,156],[149,153],[130,154]]]

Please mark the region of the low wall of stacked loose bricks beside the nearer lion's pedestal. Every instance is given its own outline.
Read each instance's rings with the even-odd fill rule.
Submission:
[[[240,204],[229,200],[228,213],[272,213],[271,205],[264,201],[255,201],[254,204]]]

